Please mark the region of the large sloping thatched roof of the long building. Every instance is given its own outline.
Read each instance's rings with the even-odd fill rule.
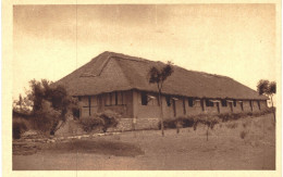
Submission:
[[[157,86],[148,83],[148,71],[162,65],[161,62],[103,52],[56,84],[64,85],[73,96],[130,89],[157,92]],[[230,77],[173,67],[174,73],[164,81],[163,93],[210,99],[268,99]]]

